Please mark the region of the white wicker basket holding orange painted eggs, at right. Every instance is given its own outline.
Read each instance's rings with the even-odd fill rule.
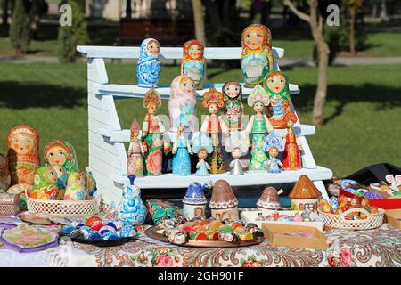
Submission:
[[[370,214],[364,208],[351,208],[340,215],[326,214],[318,210],[323,224],[327,227],[341,230],[371,230],[381,226],[384,221],[384,210],[379,208],[378,214]],[[345,217],[351,213],[363,213],[367,216],[364,220],[346,220]]]

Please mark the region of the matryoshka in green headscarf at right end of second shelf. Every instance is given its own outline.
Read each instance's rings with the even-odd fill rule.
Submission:
[[[291,110],[290,88],[287,77],[281,71],[269,73],[265,78],[266,92],[270,97],[268,117],[274,128],[286,128],[297,123]]]

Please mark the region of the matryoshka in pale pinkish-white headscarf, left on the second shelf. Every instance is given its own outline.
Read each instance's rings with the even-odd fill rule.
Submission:
[[[195,130],[196,118],[196,89],[191,77],[179,75],[171,83],[171,94],[168,99],[168,116],[170,118],[170,131],[176,133],[180,118],[188,122],[184,133]],[[175,134],[173,134],[174,136]]]

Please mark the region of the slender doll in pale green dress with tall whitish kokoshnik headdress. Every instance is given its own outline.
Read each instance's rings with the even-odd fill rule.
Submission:
[[[272,124],[265,114],[266,106],[269,104],[269,96],[262,86],[256,87],[248,97],[248,105],[253,107],[256,114],[250,117],[246,133],[252,134],[252,150],[250,151],[250,171],[266,171],[268,159],[264,151],[266,134],[274,131]]]

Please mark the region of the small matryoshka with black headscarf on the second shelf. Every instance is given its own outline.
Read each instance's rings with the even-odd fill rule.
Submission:
[[[229,81],[221,88],[225,95],[225,121],[228,124],[228,130],[242,130],[242,115],[244,107],[242,104],[242,86],[239,82]]]

